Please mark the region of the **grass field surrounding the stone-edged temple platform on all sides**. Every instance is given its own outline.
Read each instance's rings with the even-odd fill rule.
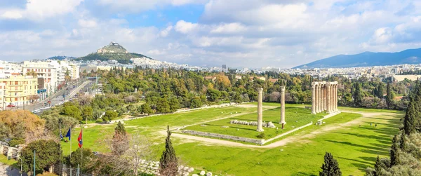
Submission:
[[[276,106],[279,107],[279,104],[265,103],[264,118],[265,114],[272,114],[273,121],[279,121],[277,119],[279,108]],[[287,126],[293,126],[291,120],[294,118],[294,112],[291,113],[290,110],[294,108],[291,107],[303,106],[308,105],[287,104]],[[326,119],[323,126],[309,126],[282,137],[295,140],[279,147],[230,147],[178,137],[173,137],[173,146],[181,161],[198,170],[212,171],[214,175],[319,175],[326,151],[331,152],[338,159],[343,175],[363,175],[366,167],[373,167],[377,156],[388,155],[392,137],[399,130],[402,112],[342,107],[340,109],[352,111],[353,114],[342,113]],[[165,136],[158,132],[166,130],[167,125],[182,127],[238,114],[240,116],[232,118],[254,119],[256,110],[255,107],[202,109],[126,121],[125,126],[128,133],[140,133],[154,142],[156,159],[158,159],[165,140]],[[221,114],[221,111],[225,113]],[[238,113],[235,114],[235,112]],[[363,113],[363,115],[354,113]],[[265,119],[265,121],[268,120]],[[219,123],[227,122],[229,119],[213,123],[221,125]],[[370,123],[373,126],[370,126]],[[375,124],[377,127],[374,127]],[[96,126],[91,124],[83,130],[84,147],[93,151],[107,151],[106,145],[100,141],[112,137],[114,127],[115,124]],[[192,126],[194,127],[196,126]],[[76,138],[79,130],[80,128],[76,128],[72,131],[73,150],[77,147]],[[65,154],[69,154],[69,143],[63,142],[62,148]]]

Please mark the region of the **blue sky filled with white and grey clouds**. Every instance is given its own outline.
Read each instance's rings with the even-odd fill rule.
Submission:
[[[80,57],[110,41],[156,60],[281,67],[421,47],[421,1],[1,0],[0,60]]]

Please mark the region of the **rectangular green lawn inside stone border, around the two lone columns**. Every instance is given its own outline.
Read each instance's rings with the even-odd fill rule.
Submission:
[[[278,128],[263,128],[265,130],[265,140],[275,137],[276,135],[281,135],[286,133],[288,130],[293,130],[300,126],[305,126],[310,122],[316,122],[317,120],[323,118],[323,115],[326,114],[311,114],[310,109],[303,109],[298,107],[286,107],[286,126],[282,130],[282,125],[279,124],[280,121],[280,108],[276,109],[267,109],[263,111],[263,121],[269,122],[272,121],[274,125]],[[236,116],[229,119],[222,119],[219,121],[212,121],[209,123],[203,123],[206,126],[196,125],[189,126],[185,130],[197,130],[208,133],[218,133],[223,135],[234,135],[239,137],[248,137],[258,139],[257,135],[259,134],[256,131],[257,126],[246,126],[240,124],[230,124],[229,121],[257,121],[257,113],[255,114],[246,114],[242,116]],[[222,128],[222,126],[229,126],[229,128]]]

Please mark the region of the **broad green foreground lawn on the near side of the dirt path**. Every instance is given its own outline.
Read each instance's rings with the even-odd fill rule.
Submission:
[[[359,115],[344,113],[326,119],[326,126],[359,118]],[[198,142],[180,144],[178,141],[175,150],[194,167],[212,170],[218,175],[319,175],[323,156],[328,151],[338,160],[343,175],[363,175],[365,168],[373,167],[377,156],[388,155],[392,137],[399,130],[399,118],[363,118],[354,126],[273,149],[213,146]],[[377,128],[370,123],[377,123]],[[290,137],[306,135],[320,128],[323,126],[304,128]]]

